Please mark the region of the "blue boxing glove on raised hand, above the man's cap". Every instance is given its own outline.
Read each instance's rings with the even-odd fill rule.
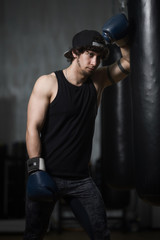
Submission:
[[[111,17],[104,24],[102,28],[102,35],[108,44],[117,44],[119,40],[124,39],[124,41],[117,45],[125,45],[128,41],[128,29],[128,20],[123,13],[120,13]]]

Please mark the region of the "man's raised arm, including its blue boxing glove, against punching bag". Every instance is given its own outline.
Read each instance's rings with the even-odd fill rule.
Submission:
[[[127,77],[130,71],[130,50],[128,45],[128,20],[124,14],[110,18],[103,27],[103,36],[108,44],[120,47],[122,57],[107,67],[97,69],[93,82],[101,97],[103,89]]]

